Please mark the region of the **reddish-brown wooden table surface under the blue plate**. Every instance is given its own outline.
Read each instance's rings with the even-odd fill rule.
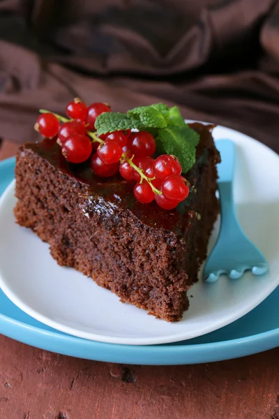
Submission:
[[[17,146],[3,142],[0,159]],[[70,358],[0,336],[1,419],[279,419],[279,348],[177,367]]]

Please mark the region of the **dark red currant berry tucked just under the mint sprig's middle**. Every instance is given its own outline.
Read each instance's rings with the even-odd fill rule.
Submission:
[[[128,149],[137,157],[150,157],[156,152],[156,142],[146,131],[133,133],[128,138]]]

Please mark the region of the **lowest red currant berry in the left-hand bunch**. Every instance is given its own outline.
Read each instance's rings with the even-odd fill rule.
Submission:
[[[92,152],[91,141],[86,135],[73,133],[62,144],[62,154],[70,163],[82,163]]]

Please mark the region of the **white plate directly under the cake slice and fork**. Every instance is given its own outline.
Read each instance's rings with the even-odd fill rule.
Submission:
[[[20,309],[52,328],[86,339],[149,345],[190,339],[221,328],[257,306],[279,284],[279,157],[246,135],[218,126],[215,139],[236,143],[234,197],[248,237],[269,262],[264,277],[222,277],[190,288],[190,309],[167,323],[122,304],[80,272],[59,267],[48,245],[15,223],[14,184],[0,200],[0,285]],[[211,243],[216,240],[218,226]]]

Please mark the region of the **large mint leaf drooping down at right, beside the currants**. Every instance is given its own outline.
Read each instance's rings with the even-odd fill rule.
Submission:
[[[187,173],[193,167],[196,158],[195,146],[187,140],[189,130],[191,128],[188,126],[169,126],[160,129],[156,137],[158,152],[176,156],[183,173]]]

